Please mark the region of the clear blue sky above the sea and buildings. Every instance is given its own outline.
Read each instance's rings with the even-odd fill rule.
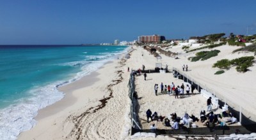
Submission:
[[[0,45],[113,43],[256,34],[256,1],[0,0]]]

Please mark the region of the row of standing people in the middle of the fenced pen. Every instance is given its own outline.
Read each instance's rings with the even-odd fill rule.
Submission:
[[[156,83],[154,85],[154,90],[155,90],[155,94],[157,95],[158,93],[158,84]],[[160,88],[161,88],[161,94],[173,94],[175,95],[175,99],[176,98],[179,98],[179,95],[180,97],[182,97],[184,95],[184,91],[186,91],[186,95],[189,95],[190,93],[190,90],[191,90],[191,94],[194,93],[194,90],[195,90],[195,86],[194,85],[191,85],[191,87],[189,87],[189,85],[184,85],[184,83],[182,83],[182,85],[178,85],[177,87],[175,87],[174,83],[172,82],[170,85],[164,85],[163,82],[161,83],[160,85]]]

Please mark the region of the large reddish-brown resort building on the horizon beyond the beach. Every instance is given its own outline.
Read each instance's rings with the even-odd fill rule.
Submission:
[[[153,36],[139,36],[138,42],[139,43],[160,43],[161,41],[164,41],[164,36],[159,36],[157,34],[154,34]]]

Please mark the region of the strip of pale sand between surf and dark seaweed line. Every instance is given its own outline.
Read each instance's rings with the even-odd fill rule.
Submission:
[[[125,61],[125,53],[121,56],[123,59],[106,62],[97,71],[83,76],[77,81],[58,87],[58,90],[65,94],[63,99],[51,106],[40,109],[35,117],[37,121],[35,127],[21,132],[18,138],[45,139],[47,137],[47,139],[63,139],[63,137],[69,137],[74,139],[74,137],[79,137],[79,132],[72,134],[77,130],[76,121],[74,122],[76,119],[74,118],[83,115],[83,113],[95,113],[104,108],[108,100],[113,98],[115,90],[113,91],[112,88],[115,84],[122,82],[120,75],[122,77],[122,73],[124,73],[122,72],[122,66],[124,66],[122,61]]]

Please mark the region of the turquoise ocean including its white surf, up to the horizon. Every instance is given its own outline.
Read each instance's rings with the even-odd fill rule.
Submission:
[[[127,52],[128,46],[0,46],[0,139],[17,139],[39,109],[60,101],[58,87]]]

